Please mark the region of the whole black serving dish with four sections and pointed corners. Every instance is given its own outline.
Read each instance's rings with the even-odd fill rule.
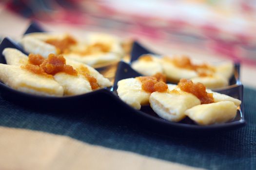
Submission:
[[[41,30],[37,24],[32,23],[25,32],[25,34],[34,32],[43,32],[43,30]],[[2,55],[2,51],[5,48],[16,48],[24,52],[22,48],[10,38],[4,38],[0,44],[0,63],[2,64],[6,64],[4,56]],[[145,53],[152,52],[140,46],[138,42],[135,42],[133,45],[131,61],[138,59],[140,55]],[[104,71],[104,68],[100,68],[99,72],[102,70]],[[174,129],[196,132],[218,130],[222,131],[228,129],[235,129],[245,125],[243,113],[243,85],[239,83],[239,66],[236,73],[237,75],[235,76],[235,79],[238,83],[228,86],[228,88],[226,89],[217,91],[219,93],[227,94],[242,101],[240,108],[237,110],[236,118],[226,123],[208,126],[199,126],[189,118],[183,119],[180,122],[167,121],[159,118],[158,115],[150,108],[150,106],[142,106],[141,110],[136,110],[125,102],[121,101],[117,95],[118,81],[126,78],[141,76],[138,72],[133,70],[129,64],[122,61],[118,63],[117,71],[115,74],[114,86],[111,89],[102,88],[93,92],[76,96],[45,97],[20,92],[0,82],[0,95],[3,96],[5,99],[10,99],[11,101],[17,102],[18,104],[28,105],[28,107],[43,104],[43,106],[47,107],[48,109],[54,109],[56,107],[73,107],[73,105],[77,104],[79,109],[88,109],[98,107],[99,105],[107,104],[113,108],[112,111],[118,110],[118,115],[121,116],[122,114],[127,114],[127,116],[133,117],[136,120],[134,121],[134,123],[139,123],[143,127],[160,129],[161,132],[171,131]]]

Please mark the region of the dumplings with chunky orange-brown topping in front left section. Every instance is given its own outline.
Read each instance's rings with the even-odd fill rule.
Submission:
[[[27,56],[12,48],[4,49],[3,55],[7,65],[0,65],[0,80],[23,92],[46,96],[78,95],[112,85],[94,68],[65,59],[63,55]]]

